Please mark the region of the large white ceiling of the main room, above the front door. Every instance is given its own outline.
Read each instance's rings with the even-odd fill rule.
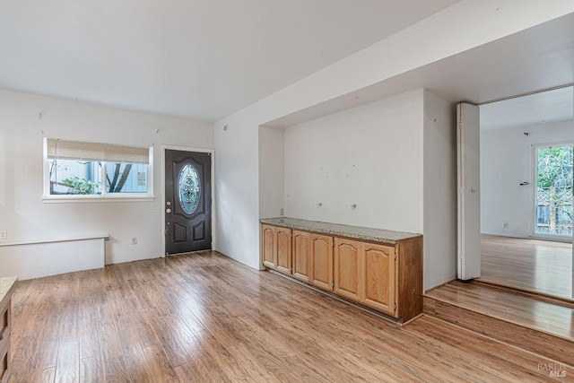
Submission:
[[[216,120],[457,0],[2,0],[0,88]]]

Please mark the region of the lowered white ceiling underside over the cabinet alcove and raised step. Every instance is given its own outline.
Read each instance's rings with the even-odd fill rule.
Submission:
[[[574,13],[265,123],[288,127],[425,88],[474,104],[574,83]]]

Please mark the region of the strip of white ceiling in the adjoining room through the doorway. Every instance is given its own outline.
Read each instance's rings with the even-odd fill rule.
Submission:
[[[569,121],[574,113],[574,90],[571,86],[531,94],[516,99],[482,105],[481,129],[532,126]]]

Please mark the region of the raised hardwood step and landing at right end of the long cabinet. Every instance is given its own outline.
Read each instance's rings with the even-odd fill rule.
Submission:
[[[574,365],[574,309],[536,298],[455,281],[425,294],[424,313]]]

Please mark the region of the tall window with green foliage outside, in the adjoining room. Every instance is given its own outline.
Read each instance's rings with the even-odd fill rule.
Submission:
[[[572,145],[535,148],[535,234],[572,235]]]

